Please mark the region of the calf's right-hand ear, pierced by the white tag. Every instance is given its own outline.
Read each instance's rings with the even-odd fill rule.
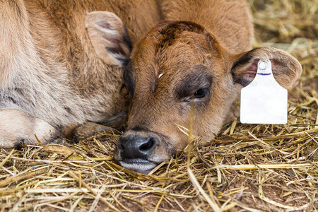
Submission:
[[[299,61],[287,52],[273,47],[260,47],[235,55],[231,69],[235,83],[249,85],[257,73],[259,59],[271,60],[273,76],[283,88],[291,88],[302,73]]]

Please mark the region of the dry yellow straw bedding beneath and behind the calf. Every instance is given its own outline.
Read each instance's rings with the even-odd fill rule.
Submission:
[[[0,151],[1,211],[317,211],[318,1],[252,1],[255,44],[303,67],[286,125],[225,125],[151,175],[124,170],[117,135]],[[262,41],[262,42],[261,42]]]

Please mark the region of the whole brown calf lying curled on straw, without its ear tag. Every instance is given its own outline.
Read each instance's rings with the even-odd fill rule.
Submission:
[[[114,158],[138,172],[187,145],[192,105],[192,133],[211,141],[259,59],[285,88],[302,71],[286,52],[252,49],[243,0],[0,0],[0,20],[0,145],[56,141],[59,128],[126,110],[125,66],[128,130]]]

